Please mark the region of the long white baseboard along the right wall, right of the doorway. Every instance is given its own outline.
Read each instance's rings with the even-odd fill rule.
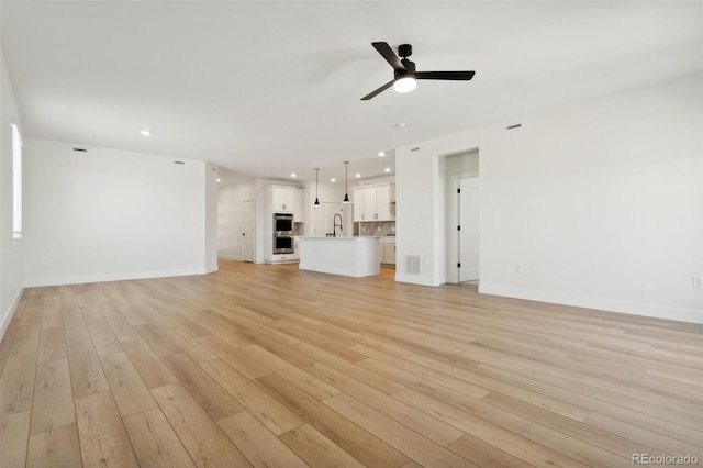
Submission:
[[[531,289],[509,288],[504,286],[479,285],[483,294],[503,296],[506,298],[526,299],[529,301],[549,302],[554,304],[573,305],[606,312],[626,313],[629,315],[649,316],[652,319],[676,320],[679,322],[703,324],[703,311],[695,309],[671,308],[666,305],[643,304],[605,298],[571,296],[558,292],[535,291]]]

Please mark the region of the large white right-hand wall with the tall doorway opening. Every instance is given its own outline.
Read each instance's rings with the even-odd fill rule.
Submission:
[[[438,160],[478,148],[481,292],[703,322],[702,290],[692,287],[702,274],[701,82],[682,78],[398,148],[397,279],[440,283]],[[406,255],[422,257],[421,275],[404,272]]]

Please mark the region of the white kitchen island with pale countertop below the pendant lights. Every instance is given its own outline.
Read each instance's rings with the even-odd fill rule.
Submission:
[[[301,270],[362,277],[381,272],[378,237],[300,237]]]

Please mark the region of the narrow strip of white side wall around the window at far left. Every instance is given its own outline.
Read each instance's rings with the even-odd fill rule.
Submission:
[[[22,122],[0,51],[0,339],[24,288],[24,242],[12,238],[12,124]]]

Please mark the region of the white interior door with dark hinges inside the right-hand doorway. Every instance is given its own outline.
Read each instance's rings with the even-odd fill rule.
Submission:
[[[459,281],[477,281],[479,275],[479,178],[459,182]]]

